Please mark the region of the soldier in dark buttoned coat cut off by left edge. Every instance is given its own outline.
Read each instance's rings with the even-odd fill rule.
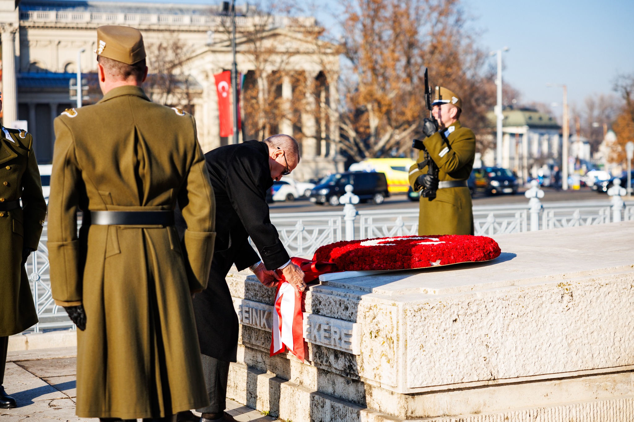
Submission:
[[[6,351],[10,335],[37,323],[24,264],[37,251],[46,201],[30,133],[0,128],[0,409],[9,409],[16,403],[3,387]]]

